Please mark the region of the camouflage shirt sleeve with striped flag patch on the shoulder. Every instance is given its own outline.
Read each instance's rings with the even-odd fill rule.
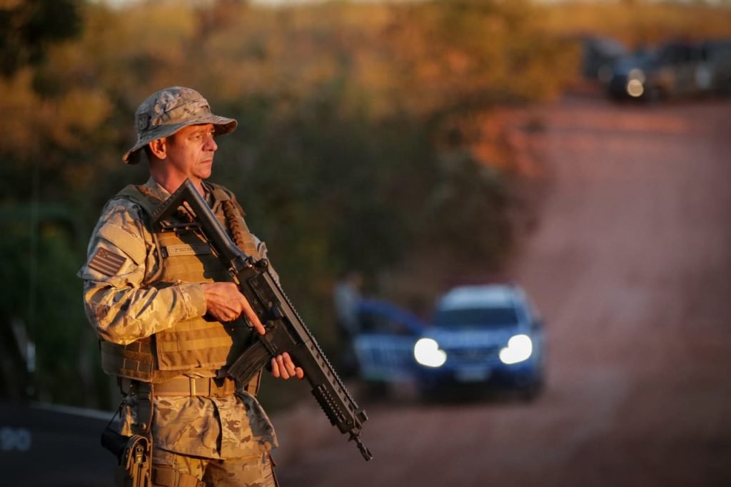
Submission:
[[[142,210],[129,200],[107,203],[89,241],[83,279],[86,315],[99,337],[128,344],[205,314],[198,283],[145,286],[158,262]]]

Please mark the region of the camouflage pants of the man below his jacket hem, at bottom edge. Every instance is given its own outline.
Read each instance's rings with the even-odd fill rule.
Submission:
[[[277,487],[273,463],[269,453],[229,460],[212,460],[183,456],[176,453],[154,449],[153,469],[157,465],[174,469],[202,480],[206,487]],[[153,484],[157,487],[159,484]],[[162,486],[161,486],[162,487]],[[166,486],[167,487],[167,486]],[[177,487],[177,486],[171,486]]]

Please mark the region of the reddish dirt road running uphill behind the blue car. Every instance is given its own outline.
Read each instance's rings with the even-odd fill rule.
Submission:
[[[731,102],[540,114],[550,191],[515,276],[545,394],[361,401],[368,464],[298,409],[274,418],[284,486],[731,486]]]

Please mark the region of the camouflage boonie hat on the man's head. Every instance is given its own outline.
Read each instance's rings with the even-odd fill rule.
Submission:
[[[126,164],[140,162],[140,149],[153,140],[173,135],[188,125],[213,124],[216,135],[230,134],[238,122],[211,113],[211,106],[191,88],[171,86],[151,94],[135,112],[137,143],[126,151]]]

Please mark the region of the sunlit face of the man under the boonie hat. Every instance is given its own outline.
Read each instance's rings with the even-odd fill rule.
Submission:
[[[213,124],[183,127],[167,137],[169,169],[183,178],[207,179],[211,177],[213,154],[218,147],[213,140]]]

